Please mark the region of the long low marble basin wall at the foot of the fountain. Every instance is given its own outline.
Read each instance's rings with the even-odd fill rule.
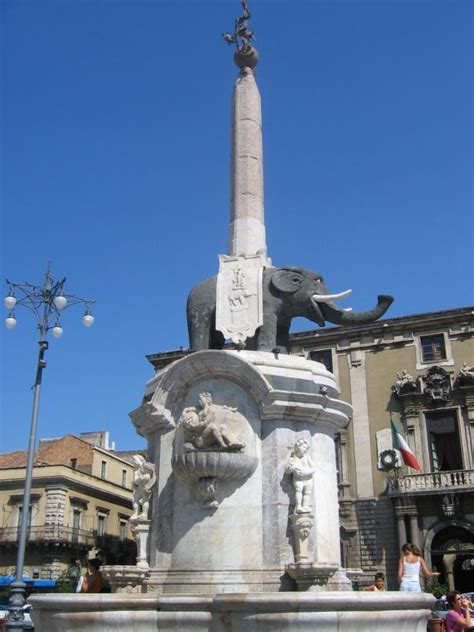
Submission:
[[[426,593],[235,593],[233,595],[32,595],[48,632],[426,632]]]

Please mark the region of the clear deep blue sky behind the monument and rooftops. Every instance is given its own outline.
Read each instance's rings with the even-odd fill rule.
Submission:
[[[2,276],[42,283],[50,259],[97,301],[91,329],[71,308],[50,341],[38,436],[141,448],[145,354],[187,346],[187,294],[226,252],[237,69],[220,33],[240,3],[0,6]],[[354,309],[393,294],[387,317],[474,303],[473,6],[250,0],[274,264],[351,287]],[[31,416],[38,336],[17,320],[2,451],[26,448]]]

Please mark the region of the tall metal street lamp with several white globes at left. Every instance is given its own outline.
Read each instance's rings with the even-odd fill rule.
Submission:
[[[25,488],[23,495],[23,511],[21,512],[20,535],[18,538],[18,555],[16,561],[15,580],[10,585],[9,617],[7,630],[23,630],[24,613],[23,607],[26,602],[26,584],[23,581],[23,566],[25,561],[26,537],[28,531],[31,483],[33,478],[33,464],[35,456],[36,423],[38,419],[38,406],[41,390],[41,378],[43,369],[46,367],[44,354],[48,349],[46,335],[48,331],[55,338],[59,338],[63,333],[61,327],[61,313],[73,305],[82,305],[85,308],[83,323],[90,327],[94,322],[91,314],[91,305],[95,301],[89,301],[73,294],[64,292],[66,279],[54,282],[51,275],[51,265],[45,275],[43,286],[31,283],[11,283],[6,279],[8,285],[8,295],[4,299],[4,305],[9,310],[5,319],[7,329],[14,329],[16,326],[15,308],[26,307],[33,312],[40,332],[39,354],[36,367],[36,379],[33,387],[33,413],[31,416],[30,439],[28,444],[28,459],[25,475]]]

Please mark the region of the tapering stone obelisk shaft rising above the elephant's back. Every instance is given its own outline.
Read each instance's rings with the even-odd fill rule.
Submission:
[[[243,68],[232,98],[231,207],[228,254],[266,254],[260,94]]]

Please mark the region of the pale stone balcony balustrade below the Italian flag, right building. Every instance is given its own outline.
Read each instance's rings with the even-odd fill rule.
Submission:
[[[474,489],[474,470],[453,470],[451,472],[430,472],[399,476],[388,482],[390,495],[433,494]]]

